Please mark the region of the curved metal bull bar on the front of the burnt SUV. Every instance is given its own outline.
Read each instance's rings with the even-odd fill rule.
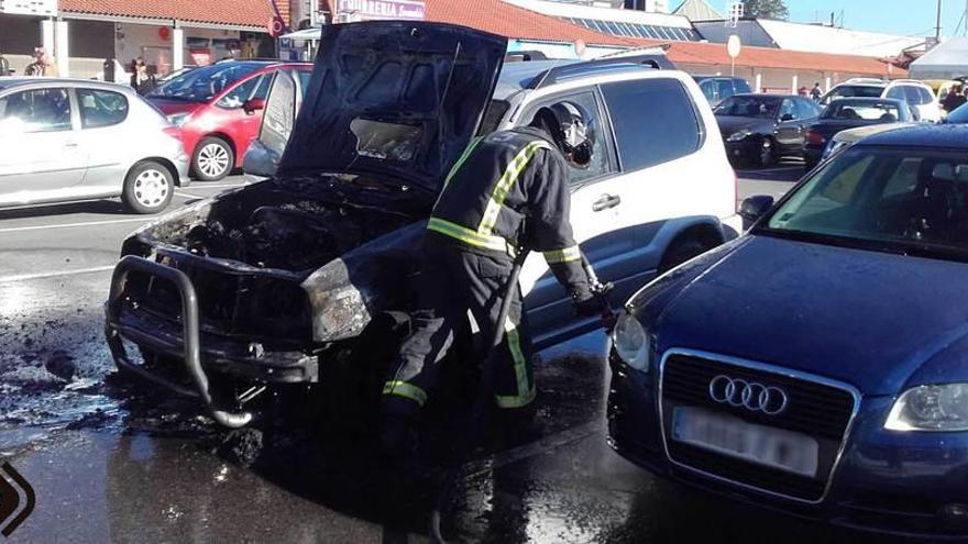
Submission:
[[[195,389],[189,389],[175,384],[162,376],[157,376],[140,365],[134,364],[124,349],[119,332],[119,318],[121,315],[121,306],[123,303],[122,295],[124,286],[128,281],[128,275],[132,271],[145,273],[162,279],[166,279],[175,285],[182,297],[182,325],[183,325],[183,345],[184,362],[188,375],[195,384]],[[108,347],[111,349],[111,356],[114,364],[119,368],[129,370],[142,378],[166,387],[179,395],[201,400],[208,408],[212,419],[219,424],[230,429],[239,429],[248,425],[252,421],[252,412],[233,412],[219,409],[212,400],[209,391],[208,376],[201,367],[201,340],[199,333],[198,319],[198,296],[195,292],[195,286],[188,276],[176,268],[160,265],[152,260],[128,255],[114,267],[114,274],[111,277],[111,292],[108,302],[105,306],[106,335],[108,337]]]

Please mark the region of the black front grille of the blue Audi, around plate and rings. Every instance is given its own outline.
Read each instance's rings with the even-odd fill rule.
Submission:
[[[738,386],[730,391],[736,396],[733,403],[724,401],[723,377]],[[744,403],[740,389],[746,385],[754,387]],[[787,403],[779,413],[771,413],[777,411],[778,404],[759,409],[757,399],[767,389],[782,390],[785,395]],[[721,481],[801,502],[817,503],[824,499],[859,403],[860,395],[848,385],[715,354],[670,349],[660,366],[662,438],[673,464]],[[807,477],[673,440],[672,418],[676,408],[705,410],[751,425],[810,436],[818,445],[816,474]]]

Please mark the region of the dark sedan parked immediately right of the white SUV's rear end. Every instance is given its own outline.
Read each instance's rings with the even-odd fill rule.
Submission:
[[[737,95],[714,112],[729,159],[765,168],[781,157],[803,156],[806,127],[816,121],[821,109],[803,97]]]

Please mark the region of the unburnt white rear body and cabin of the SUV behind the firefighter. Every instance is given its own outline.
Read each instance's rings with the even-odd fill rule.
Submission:
[[[597,153],[588,169],[571,171],[571,221],[582,249],[602,277],[616,280],[622,300],[741,230],[735,173],[708,101],[688,74],[651,67],[662,60],[647,54],[564,67],[553,60],[507,64],[484,126],[526,124],[539,108],[562,100],[591,113]],[[529,293],[536,341],[568,336],[574,321],[562,319],[562,307],[543,306],[563,291],[540,256],[526,264],[521,288]]]

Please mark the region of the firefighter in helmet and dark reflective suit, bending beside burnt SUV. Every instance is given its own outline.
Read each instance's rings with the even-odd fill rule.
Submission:
[[[601,313],[569,222],[568,165],[586,168],[593,154],[584,119],[571,102],[542,108],[529,126],[474,140],[448,175],[422,244],[413,333],[383,389],[381,441],[387,453],[416,448],[420,408],[468,310],[483,338],[495,326],[505,330],[493,359],[502,419],[512,426],[530,420],[536,389],[519,288],[507,321],[496,322],[522,247],[543,253],[576,314]]]

